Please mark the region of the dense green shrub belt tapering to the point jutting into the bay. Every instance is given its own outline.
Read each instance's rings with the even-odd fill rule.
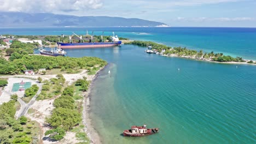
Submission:
[[[29,52],[28,52],[29,53]],[[19,74],[22,70],[41,68],[67,70],[69,73],[74,73],[75,68],[94,67],[95,65],[106,65],[107,62],[96,57],[44,57],[37,55],[25,55],[19,52],[11,53],[11,57],[7,61],[0,58],[0,74]],[[25,66],[25,67],[24,67]],[[46,74],[46,71],[42,71]]]

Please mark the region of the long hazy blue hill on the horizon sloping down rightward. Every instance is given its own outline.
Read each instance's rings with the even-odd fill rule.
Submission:
[[[51,13],[0,12],[0,27],[155,27],[162,22],[108,16],[72,16]]]

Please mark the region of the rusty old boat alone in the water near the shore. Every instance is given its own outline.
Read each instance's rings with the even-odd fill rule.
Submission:
[[[150,128],[147,129],[146,125],[144,124],[142,127],[139,126],[132,126],[131,129],[124,130],[124,136],[146,136],[158,133],[159,128]]]

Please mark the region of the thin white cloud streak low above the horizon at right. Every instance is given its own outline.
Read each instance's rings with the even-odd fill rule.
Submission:
[[[202,21],[255,21],[254,17],[177,17],[174,21],[193,21],[193,22],[202,22]]]

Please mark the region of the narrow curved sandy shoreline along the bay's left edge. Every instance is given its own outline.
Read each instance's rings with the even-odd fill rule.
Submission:
[[[88,91],[83,93],[85,97],[83,99],[83,120],[82,121],[83,121],[83,124],[85,125],[84,131],[86,135],[89,137],[90,143],[102,143],[101,137],[98,134],[97,130],[94,128],[91,122],[92,119],[89,117],[89,115],[90,115],[90,100],[92,97],[91,96],[92,87],[94,87],[94,82],[97,80],[98,75],[106,67],[108,67],[108,64],[96,72],[94,77],[92,77]]]

